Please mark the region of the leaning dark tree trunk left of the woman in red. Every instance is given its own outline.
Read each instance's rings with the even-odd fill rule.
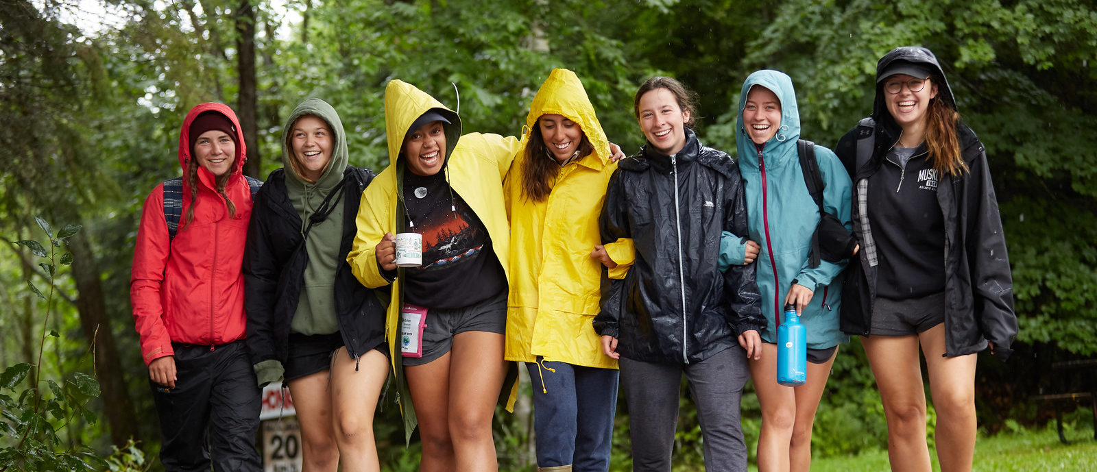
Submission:
[[[76,306],[80,312],[80,330],[94,345],[95,378],[102,391],[106,423],[111,427],[111,442],[122,447],[131,437],[138,438],[137,413],[123,378],[114,332],[106,315],[99,264],[86,234],[69,238],[68,243],[72,252],[72,277],[79,293]]]

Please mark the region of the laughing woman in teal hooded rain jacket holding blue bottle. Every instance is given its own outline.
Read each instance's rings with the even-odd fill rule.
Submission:
[[[812,423],[826,387],[837,346],[849,338],[838,330],[840,273],[847,260],[821,260],[811,267],[812,233],[819,222],[800,165],[800,113],[792,79],[776,70],[747,77],[739,97],[739,171],[746,182],[749,240],[725,232],[721,268],[757,257],[766,329],[761,355],[750,359],[761,405],[758,469],[806,471],[811,465]],[[850,228],[850,181],[834,152],[815,147],[824,209]],[[785,303],[793,303],[807,327],[807,382],[777,383],[777,326]]]

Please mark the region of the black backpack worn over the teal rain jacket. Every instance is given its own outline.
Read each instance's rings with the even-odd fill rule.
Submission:
[[[812,233],[812,251],[807,266],[818,267],[819,261],[839,262],[853,255],[857,239],[846,229],[846,226],[834,215],[823,208],[823,173],[819,172],[818,160],[815,159],[815,143],[805,139],[796,141],[796,153],[800,154],[800,168],[803,169],[804,184],[812,199],[819,207],[819,223]]]

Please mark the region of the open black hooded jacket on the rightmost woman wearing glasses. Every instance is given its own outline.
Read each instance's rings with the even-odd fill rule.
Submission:
[[[902,47],[889,53],[880,59],[877,73],[883,72],[895,60],[920,62],[945,77],[932,53],[920,47]],[[948,82],[937,85],[936,100],[945,100],[955,108]],[[875,127],[871,158],[860,169],[855,169],[861,127],[847,133],[834,150],[853,181],[851,217],[853,233],[861,244],[858,252],[860,263],[850,263],[846,269],[841,331],[860,336],[867,336],[872,325],[878,274],[892,269],[875,263],[872,222],[861,208],[872,175],[882,165],[887,150],[898,141],[902,131],[887,112],[885,94],[882,84],[878,83],[872,112]],[[937,202],[945,217],[945,241],[941,242],[941,257],[945,260],[945,356],[977,353],[991,342],[994,345],[992,354],[1006,360],[1013,353],[1010,346],[1017,337],[1018,326],[998,202],[991,183],[986,152],[979,137],[963,123],[958,125],[957,133],[969,171],[959,177],[941,175],[937,186]]]

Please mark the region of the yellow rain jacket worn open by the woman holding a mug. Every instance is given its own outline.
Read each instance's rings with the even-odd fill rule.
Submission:
[[[509,231],[504,205],[502,181],[510,170],[510,163],[518,151],[519,141],[514,137],[472,133],[461,136],[461,118],[441,102],[409,83],[392,80],[385,88],[385,133],[388,136],[388,158],[391,164],[378,174],[362,193],[358,210],[358,233],[347,262],[351,272],[362,285],[377,288],[393,284],[392,301],[385,322],[385,335],[389,352],[393,353],[393,370],[398,390],[397,402],[404,414],[405,439],[409,440],[418,423],[411,395],[404,379],[404,369],[398,339],[400,337],[400,286],[404,269],[397,268],[396,280],[388,280],[381,274],[374,247],[386,232],[404,232],[404,206],[399,192],[404,182],[405,162],[399,158],[400,147],[408,127],[428,110],[436,108],[451,125],[445,125],[445,162],[449,168],[450,185],[487,228],[502,269],[511,274],[509,264]],[[442,172],[445,172],[444,170]],[[500,404],[513,411],[518,395],[518,369],[511,366],[500,393]]]

